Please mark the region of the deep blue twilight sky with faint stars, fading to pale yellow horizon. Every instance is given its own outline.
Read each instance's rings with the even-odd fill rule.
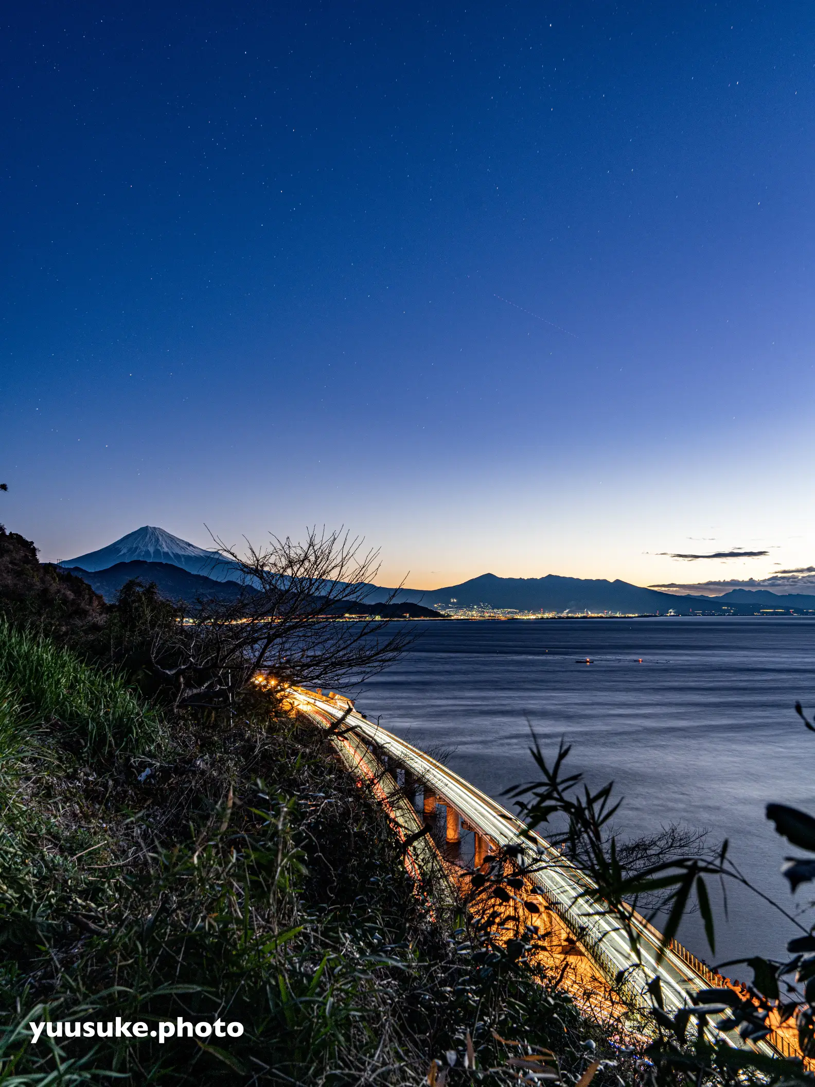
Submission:
[[[42,558],[813,561],[815,8],[441,7],[5,10],[0,517]]]

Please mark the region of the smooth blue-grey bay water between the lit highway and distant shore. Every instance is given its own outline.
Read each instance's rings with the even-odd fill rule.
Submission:
[[[535,775],[530,726],[550,757],[564,737],[573,770],[594,786],[615,782],[623,834],[674,821],[705,827],[710,842],[730,840],[741,870],[789,912],[807,901],[805,886],[793,898],[780,876],[795,850],[764,805],[815,814],[815,735],[794,712],[795,700],[815,705],[815,620],[451,620],[416,628],[412,649],[360,696],[368,717],[381,715],[384,727],[424,750],[452,749],[448,765],[505,804],[503,790]],[[739,888],[728,900],[725,919],[716,895],[716,961],[781,955],[793,925]],[[713,961],[698,917],[680,938]],[[750,976],[745,967],[741,976]]]

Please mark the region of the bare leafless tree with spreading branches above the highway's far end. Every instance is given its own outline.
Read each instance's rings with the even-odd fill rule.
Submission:
[[[379,552],[349,533],[309,529],[303,542],[273,536],[244,554],[215,538],[235,601],[199,601],[151,649],[153,674],[175,688],[177,707],[234,702],[256,674],[287,685],[356,686],[413,640],[367,599]],[[391,603],[399,590],[393,590]]]

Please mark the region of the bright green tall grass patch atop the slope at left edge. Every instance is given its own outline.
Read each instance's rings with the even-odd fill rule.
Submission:
[[[20,707],[33,726],[61,729],[88,753],[136,753],[159,739],[159,715],[121,676],[85,664],[42,635],[4,620],[0,620],[0,689],[14,692],[7,703],[0,694],[0,753],[12,717],[20,721]]]

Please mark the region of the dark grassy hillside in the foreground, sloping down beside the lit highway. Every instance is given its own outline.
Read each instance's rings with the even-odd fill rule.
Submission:
[[[471,1079],[467,1030],[479,1067],[504,1067],[486,1082],[510,1083],[517,1050],[493,1030],[551,1047],[573,1077],[582,1041],[602,1044],[466,917],[453,936],[434,919],[381,810],[268,703],[166,723],[121,678],[0,625],[0,805],[9,1083],[418,1084],[455,1051],[453,1085]],[[246,1034],[35,1047],[24,1027],[116,1015]]]

